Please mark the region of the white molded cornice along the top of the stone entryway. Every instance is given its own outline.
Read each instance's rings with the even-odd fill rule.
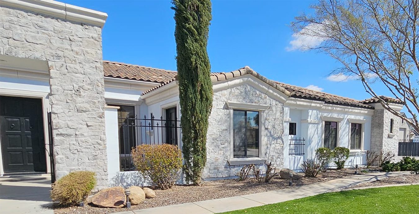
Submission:
[[[108,14],[103,12],[52,0],[1,0],[0,5],[30,10],[64,20],[99,26],[101,28],[105,24],[106,18],[108,18]]]

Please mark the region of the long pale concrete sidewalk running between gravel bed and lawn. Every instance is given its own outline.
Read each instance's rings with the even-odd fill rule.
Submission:
[[[224,199],[212,199],[207,201],[197,201],[171,206],[160,206],[149,209],[139,209],[134,211],[119,212],[117,214],[212,214],[238,209],[246,209],[265,204],[274,204],[293,199],[300,199],[307,196],[314,196],[321,193],[341,191],[351,186],[389,178],[397,175],[408,175],[409,172],[390,172],[390,173],[369,173],[363,175],[353,175],[348,178],[328,180],[321,183],[313,183],[304,186],[295,186],[275,191],[254,193],[250,195],[235,196]]]

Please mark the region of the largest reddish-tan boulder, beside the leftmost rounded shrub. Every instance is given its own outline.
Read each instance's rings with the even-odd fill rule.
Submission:
[[[92,204],[98,207],[121,208],[126,201],[127,196],[121,186],[103,189],[92,197]]]

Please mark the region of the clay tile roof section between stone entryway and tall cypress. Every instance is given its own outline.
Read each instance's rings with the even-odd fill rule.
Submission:
[[[109,61],[103,61],[103,73],[105,77],[153,83],[166,83],[172,81],[178,74],[176,71]]]

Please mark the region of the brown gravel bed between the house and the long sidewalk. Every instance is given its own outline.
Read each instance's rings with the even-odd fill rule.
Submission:
[[[362,172],[360,172],[361,174]],[[354,175],[354,170],[328,170],[320,173],[316,178],[301,178],[293,180],[293,185],[302,186],[311,183],[344,178]],[[254,179],[237,182],[236,179],[203,181],[201,186],[173,186],[171,189],[156,189],[154,199],[146,199],[143,204],[133,205],[131,209],[126,208],[98,208],[91,205],[89,199],[84,207],[54,207],[54,214],[108,214],[136,209],[146,209],[156,206],[168,206],[173,204],[184,204],[195,201],[210,199],[221,199],[232,196],[241,196],[252,193],[260,193],[278,189],[289,188],[288,180],[272,179],[270,183],[257,183]]]

